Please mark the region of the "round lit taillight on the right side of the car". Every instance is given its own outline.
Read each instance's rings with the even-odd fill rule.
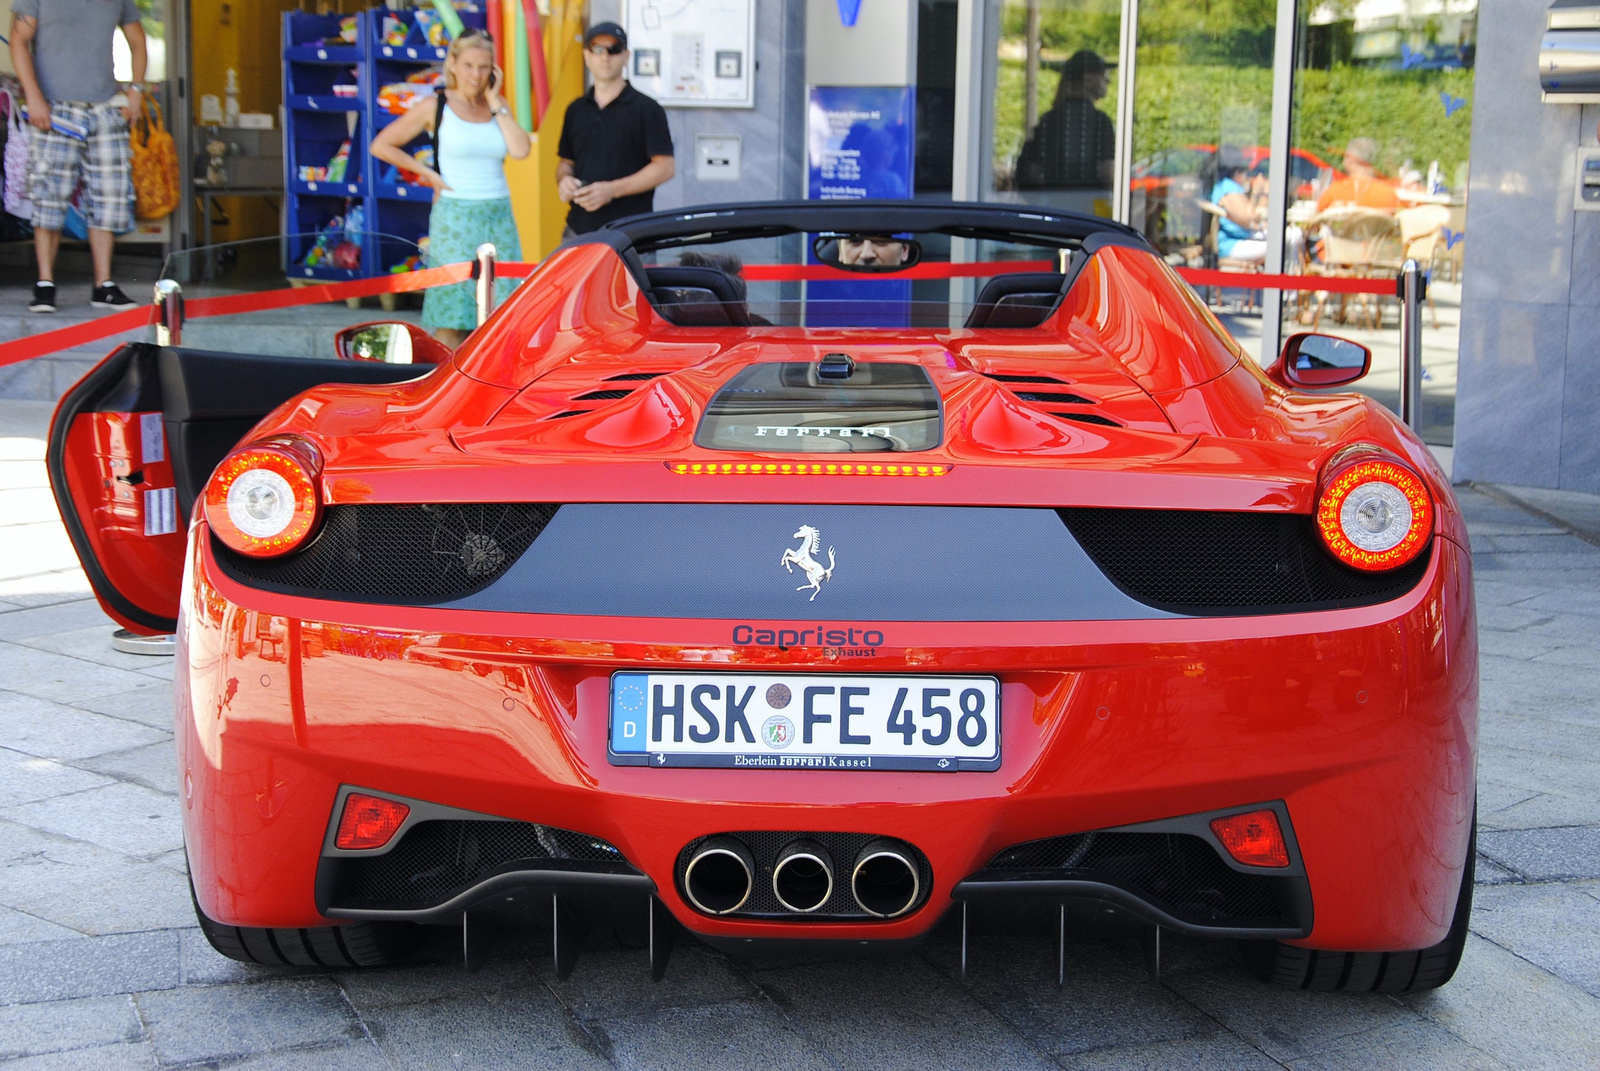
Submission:
[[[1338,456],[1317,495],[1317,533],[1352,568],[1398,568],[1427,546],[1434,499],[1427,485],[1398,461],[1366,450]]]

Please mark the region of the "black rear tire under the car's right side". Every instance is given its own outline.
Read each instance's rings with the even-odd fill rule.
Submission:
[[[1478,813],[1472,810],[1467,864],[1450,933],[1414,953],[1331,953],[1280,941],[1240,941],[1245,967],[1262,981],[1315,993],[1416,993],[1437,989],[1456,973],[1467,948],[1472,919],[1472,882],[1478,858]]]

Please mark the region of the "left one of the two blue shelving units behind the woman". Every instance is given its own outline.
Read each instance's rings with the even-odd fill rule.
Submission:
[[[362,266],[333,267],[318,264],[306,267],[315,234],[334,216],[347,215],[355,205],[366,203],[366,141],[370,117],[363,101],[368,98],[368,37],[366,16],[357,24],[354,45],[326,45],[339,34],[339,16],[286,11],[283,14],[283,104],[285,104],[285,152],[283,189],[288,200],[290,250],[285,272],[291,279],[315,279],[342,282],[360,279],[371,271],[376,251],[362,248]],[[354,96],[339,96],[333,86],[355,86]],[[349,93],[346,90],[346,93]],[[325,166],[339,146],[350,142],[350,155],[341,181],[304,181],[302,165]],[[371,231],[368,221],[366,229]],[[306,235],[306,237],[302,237]]]

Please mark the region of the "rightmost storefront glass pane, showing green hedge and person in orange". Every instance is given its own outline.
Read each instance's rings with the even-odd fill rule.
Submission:
[[[1405,258],[1432,274],[1422,311],[1422,437],[1454,427],[1475,0],[1302,5],[1296,27],[1293,144],[1328,162],[1291,179],[1288,218],[1304,234],[1288,271],[1392,279]],[[1400,394],[1392,298],[1288,295],[1285,336],[1322,330],[1365,343],[1373,371],[1355,387]]]

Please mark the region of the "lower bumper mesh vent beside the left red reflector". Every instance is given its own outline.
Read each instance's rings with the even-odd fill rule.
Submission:
[[[598,837],[530,821],[419,821],[392,850],[325,860],[338,871],[336,908],[416,909],[443,903],[514,869],[632,872]]]

